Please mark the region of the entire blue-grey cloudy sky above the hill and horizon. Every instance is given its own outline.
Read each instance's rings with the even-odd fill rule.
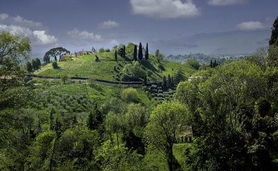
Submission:
[[[31,39],[32,56],[148,42],[169,54],[250,54],[268,45],[277,0],[0,0],[0,31]]]

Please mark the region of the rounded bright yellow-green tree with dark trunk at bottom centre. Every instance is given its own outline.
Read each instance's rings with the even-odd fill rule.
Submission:
[[[173,145],[186,124],[186,108],[177,102],[163,102],[154,108],[146,127],[146,139],[163,155],[169,170],[173,170]]]

